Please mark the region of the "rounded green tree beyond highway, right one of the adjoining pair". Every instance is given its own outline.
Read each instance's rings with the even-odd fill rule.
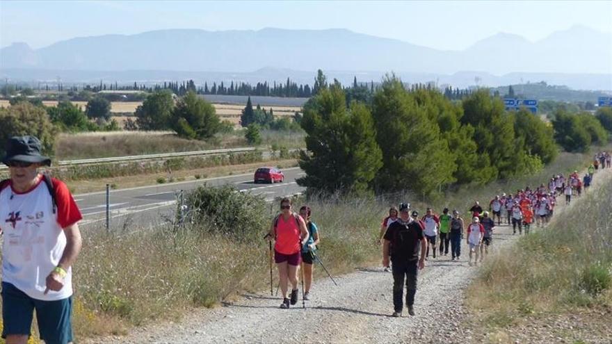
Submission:
[[[184,138],[207,140],[219,130],[220,120],[214,106],[189,91],[172,111],[173,128]]]

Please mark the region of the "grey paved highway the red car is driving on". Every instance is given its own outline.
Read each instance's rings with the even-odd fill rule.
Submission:
[[[303,192],[296,179],[304,172],[299,167],[283,170],[284,182],[274,184],[253,183],[253,173],[237,174],[230,177],[182,181],[179,183],[158,184],[111,190],[111,229],[129,229],[134,225],[139,227],[156,226],[171,218],[176,208],[177,194],[180,190],[189,191],[204,183],[209,186],[232,184],[241,192],[262,195],[270,202],[275,197],[283,197]],[[106,216],[106,193],[88,193],[74,195],[81,208],[83,221],[81,227],[102,227]]]

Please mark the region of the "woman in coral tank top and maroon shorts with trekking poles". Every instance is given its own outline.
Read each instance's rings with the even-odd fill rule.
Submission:
[[[291,199],[280,201],[281,213],[275,217],[268,232],[268,240],[275,240],[274,261],[278,268],[278,279],[282,292],[280,308],[298,303],[298,266],[302,247],[308,241],[308,230],[304,219],[292,213]],[[291,299],[287,297],[287,280],[291,283]]]

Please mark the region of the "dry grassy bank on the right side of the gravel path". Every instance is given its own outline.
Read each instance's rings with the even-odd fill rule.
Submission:
[[[604,171],[595,173],[595,179],[609,174]],[[609,331],[612,178],[608,176],[572,203],[546,229],[520,238],[483,265],[467,291],[467,304],[484,325],[482,331],[510,341],[511,337],[501,334],[551,317],[579,319],[577,323],[587,332],[594,325]],[[576,322],[570,325],[577,326]],[[581,328],[553,330],[566,343],[582,340],[576,335]]]

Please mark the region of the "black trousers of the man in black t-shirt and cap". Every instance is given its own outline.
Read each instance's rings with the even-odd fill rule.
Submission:
[[[403,309],[404,281],[406,286],[406,305],[414,304],[414,295],[417,293],[417,274],[419,272],[419,261],[392,262],[393,271],[393,308],[396,312]]]

